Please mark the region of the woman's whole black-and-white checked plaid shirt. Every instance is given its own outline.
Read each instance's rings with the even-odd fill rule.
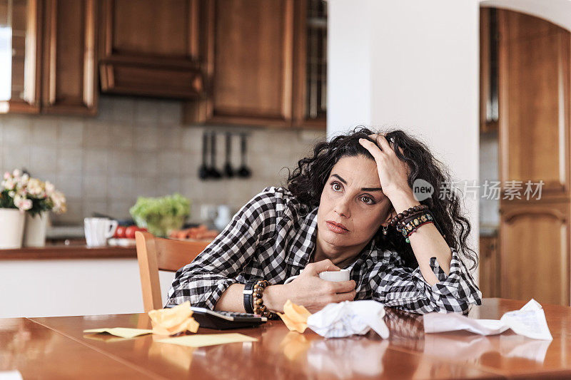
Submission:
[[[285,188],[266,188],[234,215],[232,222],[196,259],[176,272],[167,306],[190,301],[213,309],[235,283],[266,279],[283,284],[310,262],[317,235],[317,208],[302,216],[302,205]],[[466,312],[482,294],[452,249],[450,274],[430,260],[440,282],[430,286],[419,268],[405,267],[397,252],[371,241],[348,267],[355,299],[375,299],[409,312]]]

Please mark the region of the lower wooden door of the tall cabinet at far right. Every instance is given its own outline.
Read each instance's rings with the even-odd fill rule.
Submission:
[[[500,212],[500,297],[569,305],[569,202],[503,202]]]

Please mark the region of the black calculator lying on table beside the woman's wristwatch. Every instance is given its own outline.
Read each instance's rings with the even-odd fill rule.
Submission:
[[[268,318],[256,314],[218,312],[203,307],[191,307],[191,310],[192,317],[200,324],[200,327],[206,327],[206,329],[242,329],[268,322]]]

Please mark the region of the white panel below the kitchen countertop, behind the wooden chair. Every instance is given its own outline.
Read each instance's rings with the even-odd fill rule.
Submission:
[[[164,303],[174,273],[159,277]],[[0,295],[0,318],[143,312],[136,259],[2,261]]]

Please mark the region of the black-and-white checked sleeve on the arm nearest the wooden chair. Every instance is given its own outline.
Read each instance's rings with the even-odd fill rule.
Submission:
[[[190,301],[214,309],[223,292],[251,260],[260,242],[276,229],[276,195],[266,188],[234,215],[230,224],[196,257],[175,274],[166,306]]]

